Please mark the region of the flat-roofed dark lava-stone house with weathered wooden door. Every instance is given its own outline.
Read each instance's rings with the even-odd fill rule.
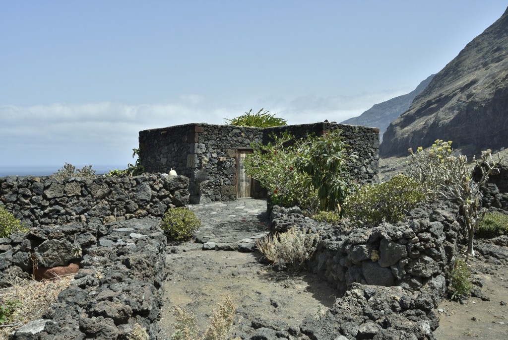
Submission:
[[[340,129],[359,159],[352,175],[361,182],[372,181],[378,169],[379,129],[318,122],[274,128],[190,123],[140,131],[139,156],[145,171],[187,176],[189,202],[229,201],[262,197],[259,183],[245,175],[243,159],[252,152],[252,142],[266,143],[272,134],[290,132],[296,138],[322,135]]]

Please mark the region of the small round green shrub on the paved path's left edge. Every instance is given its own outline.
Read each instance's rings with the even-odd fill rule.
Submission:
[[[199,227],[201,227],[201,221],[198,220],[194,211],[183,207],[169,209],[161,222],[161,229],[168,238],[176,241],[189,239]]]

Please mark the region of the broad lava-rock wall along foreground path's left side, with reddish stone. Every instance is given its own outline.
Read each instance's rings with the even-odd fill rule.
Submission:
[[[30,276],[37,268],[48,275],[81,267],[44,319],[20,327],[10,339],[126,339],[136,323],[158,339],[166,275],[166,235],[159,223],[144,218],[32,228],[0,239],[3,274]]]

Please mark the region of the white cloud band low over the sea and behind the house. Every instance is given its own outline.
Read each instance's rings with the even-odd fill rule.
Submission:
[[[271,99],[263,107],[290,124],[340,122],[360,115],[373,104],[400,94],[356,97],[304,96],[292,101]],[[3,165],[112,165],[132,162],[138,132],[192,122],[223,124],[248,109],[209,103],[198,95],[170,104],[86,103],[0,106],[0,152]]]

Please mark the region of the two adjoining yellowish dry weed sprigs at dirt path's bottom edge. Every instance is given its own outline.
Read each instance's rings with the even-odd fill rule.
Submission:
[[[224,305],[219,305],[218,310],[213,310],[212,316],[209,318],[211,325],[206,328],[205,334],[200,337],[196,328],[196,315],[176,307],[175,332],[172,334],[171,340],[226,340],[228,333],[233,328],[235,311],[236,307],[231,298],[228,297]]]

